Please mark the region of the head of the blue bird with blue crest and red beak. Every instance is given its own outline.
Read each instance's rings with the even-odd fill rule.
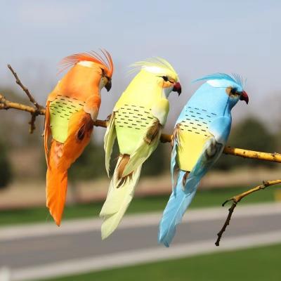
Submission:
[[[244,82],[242,77],[238,74],[233,74],[232,76],[224,73],[210,74],[195,81],[206,81],[211,87],[211,94],[213,100],[216,98],[221,98],[221,100],[226,100],[230,109],[236,105],[239,100],[244,100],[247,104],[249,103],[249,96],[246,91],[244,91]]]

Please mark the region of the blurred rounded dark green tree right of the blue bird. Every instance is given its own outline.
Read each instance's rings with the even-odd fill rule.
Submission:
[[[263,152],[277,151],[276,136],[256,117],[248,117],[237,124],[230,133],[228,145],[235,148],[257,150]],[[254,159],[244,159],[222,155],[215,165],[216,169],[231,169],[233,166],[274,166],[273,162],[262,162]]]

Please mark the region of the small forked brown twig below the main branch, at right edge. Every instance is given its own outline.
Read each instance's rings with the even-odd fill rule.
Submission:
[[[223,206],[230,201],[232,201],[233,204],[231,205],[230,209],[228,209],[228,216],[226,217],[226,221],[223,224],[223,227],[221,228],[221,230],[218,232],[218,238],[215,243],[216,246],[219,246],[221,237],[222,237],[223,233],[226,231],[226,228],[230,223],[230,219],[233,215],[233,211],[234,211],[235,207],[237,206],[237,204],[247,195],[250,195],[251,193],[259,191],[259,190],[263,190],[263,189],[267,188],[268,186],[277,185],[279,183],[281,183],[281,180],[263,181],[262,185],[258,185],[255,188],[251,188],[245,192],[240,193],[239,195],[231,197],[230,199],[226,200],[226,202],[223,202]]]

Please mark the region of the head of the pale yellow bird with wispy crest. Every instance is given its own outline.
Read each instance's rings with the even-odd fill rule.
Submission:
[[[150,58],[132,65],[133,71],[141,69],[150,75],[150,81],[156,83],[161,89],[163,95],[168,98],[169,94],[174,91],[181,94],[181,84],[178,74],[168,61],[164,58]]]

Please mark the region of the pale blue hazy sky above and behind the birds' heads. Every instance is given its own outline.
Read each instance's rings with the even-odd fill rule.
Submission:
[[[45,103],[60,79],[61,58],[106,48],[115,73],[112,90],[102,93],[101,119],[132,79],[128,66],[160,56],[183,88],[180,98],[170,98],[168,127],[200,86],[191,81],[214,72],[247,78],[250,103],[236,106],[236,122],[248,115],[268,125],[280,120],[281,1],[0,0],[0,8],[1,88],[16,87],[10,63]]]

